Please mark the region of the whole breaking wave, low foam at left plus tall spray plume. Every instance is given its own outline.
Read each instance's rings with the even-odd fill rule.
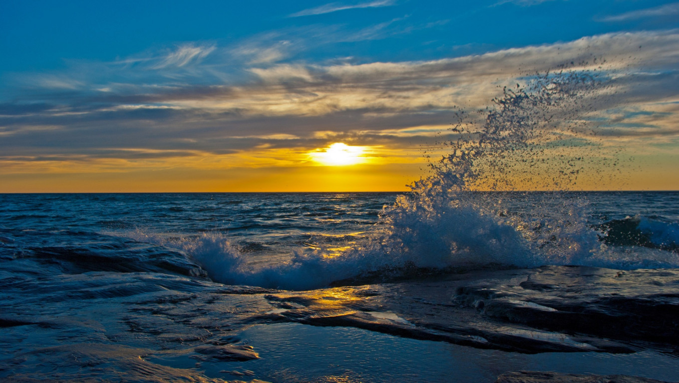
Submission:
[[[619,172],[619,158],[604,151],[589,118],[606,97],[605,73],[561,70],[521,81],[484,110],[459,110],[446,154],[339,256],[321,248],[253,264],[221,234],[151,241],[190,254],[215,281],[285,289],[479,267],[679,267],[676,224],[637,217],[592,226],[587,199],[566,193],[583,175],[606,184]],[[521,195],[528,205],[517,206]]]

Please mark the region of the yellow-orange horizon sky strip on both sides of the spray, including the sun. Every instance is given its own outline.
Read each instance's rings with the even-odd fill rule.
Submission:
[[[90,161],[62,163],[20,172],[0,170],[0,193],[195,193],[195,192],[378,192],[407,191],[411,182],[426,176],[428,162],[421,150],[388,150],[383,147],[346,146],[349,157],[330,162],[314,155],[327,154],[325,148],[304,150],[261,150],[259,161],[246,153],[230,158],[198,157],[158,163],[122,164]],[[360,148],[354,150],[352,148]],[[400,152],[400,153],[399,153]],[[440,155],[442,152],[439,152]],[[399,155],[400,154],[400,155]],[[229,156],[226,156],[229,157]],[[435,157],[435,155],[434,155]],[[272,161],[276,159],[276,161]],[[180,161],[181,160],[181,161]],[[678,190],[674,156],[638,155],[630,163],[610,169],[583,167],[577,183],[570,190]],[[271,166],[275,163],[275,166]],[[269,164],[269,165],[266,165]],[[29,166],[24,164],[23,166]],[[44,164],[43,164],[44,165]],[[58,169],[56,171],[55,169]],[[538,174],[545,177],[545,173]],[[536,180],[519,190],[550,190]],[[546,184],[549,184],[547,182]],[[611,188],[611,186],[616,186]]]

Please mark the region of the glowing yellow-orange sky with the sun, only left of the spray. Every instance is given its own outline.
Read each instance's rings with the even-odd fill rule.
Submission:
[[[63,161],[39,167],[16,163],[14,172],[0,170],[0,180],[5,180],[0,193],[404,191],[425,165],[419,150],[397,154],[377,146],[334,147],[340,153],[334,157],[331,144],[314,150],[177,157],[162,163],[120,159],[73,161],[69,166]],[[343,157],[345,150],[348,155]]]

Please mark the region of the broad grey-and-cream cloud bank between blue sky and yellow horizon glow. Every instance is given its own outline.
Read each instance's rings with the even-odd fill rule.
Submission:
[[[581,100],[591,108],[587,117],[601,121],[601,137],[631,146],[679,136],[679,31],[363,63],[253,60],[267,40],[288,41],[272,35],[235,48],[187,43],[146,52],[145,60],[78,62],[70,71],[26,75],[33,87],[0,104],[0,163],[15,170],[58,161],[79,161],[82,169],[87,161],[102,169],[213,166],[208,159],[287,166],[294,161],[284,161],[285,153],[331,142],[380,146],[391,161],[414,161],[459,108],[485,108],[502,86],[564,65],[610,79],[604,94]],[[37,89],[45,78],[77,87]]]

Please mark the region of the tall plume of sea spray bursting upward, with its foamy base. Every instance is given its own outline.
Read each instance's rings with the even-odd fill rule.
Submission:
[[[585,224],[584,201],[557,197],[559,211],[535,205],[520,216],[507,208],[509,195],[487,191],[568,190],[591,161],[609,172],[591,156],[595,146],[583,144],[591,133],[582,103],[604,83],[589,71],[561,70],[505,87],[477,116],[460,110],[447,154],[382,214],[379,247],[422,267],[585,262],[600,243]]]

